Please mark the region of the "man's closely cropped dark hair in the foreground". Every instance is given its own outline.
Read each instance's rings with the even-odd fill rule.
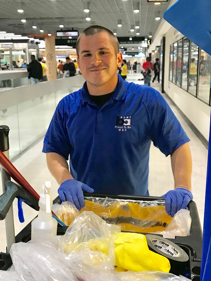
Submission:
[[[92,25],[90,27],[85,28],[85,30],[83,30],[83,32],[79,35],[77,43],[76,43],[76,52],[77,52],[77,56],[79,58],[79,44],[80,44],[80,39],[83,35],[85,36],[90,36],[90,35],[94,35],[100,32],[107,32],[110,37],[112,37],[112,39],[114,40],[114,49],[115,49],[115,54],[117,55],[119,53],[119,42],[117,37],[114,35],[114,33],[109,30],[108,28],[105,28],[101,25]]]

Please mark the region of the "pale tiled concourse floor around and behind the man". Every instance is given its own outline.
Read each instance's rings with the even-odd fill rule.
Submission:
[[[139,74],[129,74],[127,81],[143,84],[143,81],[138,81]],[[160,90],[160,86],[157,81],[151,84],[155,89]],[[164,96],[165,97],[165,96]],[[166,97],[165,97],[166,98]],[[168,101],[168,99],[167,99]],[[186,133],[188,134],[190,141],[190,149],[193,157],[193,175],[192,175],[192,191],[194,195],[194,201],[197,203],[200,220],[203,224],[204,216],[204,201],[205,201],[205,184],[206,184],[206,169],[207,169],[207,149],[197,138],[195,133],[190,129],[175,107],[168,101],[173,112],[179,119]],[[42,143],[40,141],[34,145],[30,150],[21,155],[17,160],[13,162],[13,165],[19,172],[26,178],[26,180],[33,186],[33,188],[40,193],[43,180],[49,180],[52,182],[52,197],[57,196],[58,184],[48,171],[45,154],[41,152]],[[170,156],[165,157],[157,148],[153,145],[150,151],[150,175],[149,175],[149,192],[152,196],[161,196],[169,189],[174,188],[173,174],[171,171]],[[0,194],[1,181],[0,181]],[[37,214],[36,211],[28,207],[23,203],[23,213],[25,216],[25,222],[20,223],[18,220],[17,201],[13,203],[15,232],[16,234],[25,227]],[[4,221],[0,221],[0,252],[6,249],[6,234]]]

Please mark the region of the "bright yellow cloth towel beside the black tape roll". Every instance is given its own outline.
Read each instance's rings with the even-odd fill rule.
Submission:
[[[146,236],[122,232],[115,240],[115,266],[132,271],[162,271],[169,273],[168,258],[149,250]]]

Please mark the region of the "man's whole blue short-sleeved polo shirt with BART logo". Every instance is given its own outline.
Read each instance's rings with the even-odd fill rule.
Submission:
[[[167,156],[189,140],[158,91],[118,75],[101,108],[90,100],[86,82],[59,102],[43,152],[70,156],[73,178],[95,192],[148,195],[151,141]]]

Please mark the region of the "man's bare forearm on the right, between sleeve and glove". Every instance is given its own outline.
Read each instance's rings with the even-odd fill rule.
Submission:
[[[175,189],[183,187],[191,190],[192,157],[188,143],[181,145],[171,153],[171,167]]]

